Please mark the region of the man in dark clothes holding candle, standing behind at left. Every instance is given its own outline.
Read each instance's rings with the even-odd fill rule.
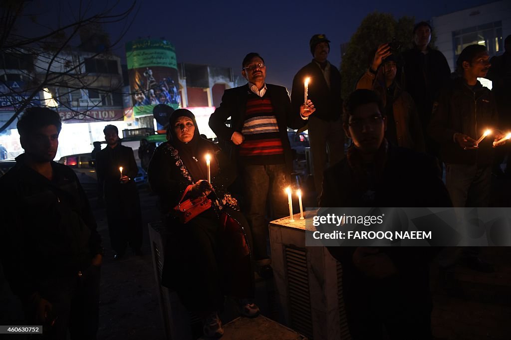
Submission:
[[[119,143],[118,131],[114,125],[105,127],[107,147],[96,155],[96,171],[102,188],[99,197],[104,195],[110,243],[116,260],[124,256],[128,245],[136,255],[142,255],[142,213],[133,181],[138,166],[133,150]]]

